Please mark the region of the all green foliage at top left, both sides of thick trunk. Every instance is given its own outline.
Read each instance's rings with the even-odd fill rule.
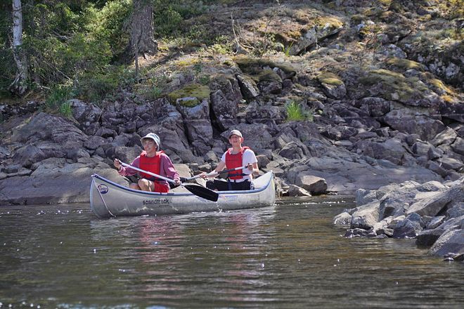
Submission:
[[[155,31],[161,37],[183,37],[185,45],[198,46],[208,40],[212,29],[203,25],[207,5],[195,0],[147,0],[153,3]],[[210,1],[211,2],[211,1]],[[229,3],[230,1],[219,1]],[[217,4],[217,1],[212,1]],[[208,3],[210,4],[210,3]],[[63,94],[57,85],[73,85],[73,93],[83,100],[98,101],[118,86],[133,86],[127,74],[117,76],[112,68],[115,60],[127,51],[128,22],[132,0],[47,0],[23,2],[23,51],[27,55],[32,88],[52,88],[51,100]],[[207,17],[205,17],[207,18]],[[209,19],[207,19],[209,20]],[[11,32],[11,1],[0,4],[0,94],[15,77],[15,63],[8,46]],[[221,38],[218,41],[223,41]],[[195,45],[196,44],[196,45]],[[217,46],[228,50],[230,46]],[[226,53],[226,51],[224,51]],[[112,72],[110,72],[110,71]],[[197,73],[200,84],[209,77]],[[68,86],[65,86],[67,88]],[[165,86],[150,86],[146,94],[161,96]],[[56,103],[51,108],[58,110]]]

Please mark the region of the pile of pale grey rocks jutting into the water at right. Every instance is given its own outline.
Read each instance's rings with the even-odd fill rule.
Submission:
[[[464,261],[464,177],[385,185],[356,191],[354,209],[335,216],[349,225],[345,237],[415,238],[429,254]]]

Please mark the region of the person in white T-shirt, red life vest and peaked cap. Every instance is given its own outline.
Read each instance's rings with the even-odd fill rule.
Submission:
[[[211,190],[228,191],[228,190],[252,190],[253,176],[259,176],[258,160],[253,150],[249,147],[243,147],[243,136],[238,130],[232,130],[228,134],[228,142],[232,147],[228,148],[221,157],[221,162],[217,164],[215,172],[223,169],[234,169],[240,166],[247,166],[246,169],[228,172],[228,179],[225,180],[208,180],[206,187]],[[206,173],[202,173],[203,178],[207,178]],[[213,176],[215,177],[215,176]]]

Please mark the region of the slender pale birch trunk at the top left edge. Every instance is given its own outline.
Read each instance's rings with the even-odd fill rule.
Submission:
[[[13,0],[13,57],[16,63],[16,77],[8,90],[17,96],[27,91],[27,61],[22,49],[22,8],[21,0]]]

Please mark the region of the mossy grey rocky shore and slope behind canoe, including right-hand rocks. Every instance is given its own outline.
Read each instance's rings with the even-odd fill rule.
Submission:
[[[0,103],[0,205],[89,202],[92,173],[127,185],[112,159],[131,162],[149,132],[181,176],[210,171],[238,129],[280,195],[356,195],[358,207],[335,218],[348,237],[418,237],[432,254],[462,256],[463,42],[431,41],[459,20],[423,5],[366,13],[342,2],[347,14],[295,5],[272,22],[250,13],[264,4],[243,4],[242,43],[261,20],[292,47],[266,58],[161,52],[141,63],[156,67],[161,98],[138,85],[98,104],[69,100],[69,117],[39,100]],[[228,16],[218,11],[215,27],[229,28]],[[290,104],[302,121],[288,121]]]

